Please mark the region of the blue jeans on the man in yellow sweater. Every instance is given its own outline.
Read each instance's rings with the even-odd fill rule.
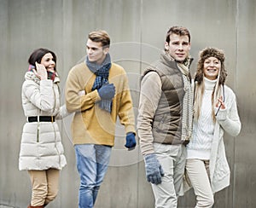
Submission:
[[[108,170],[111,147],[75,145],[77,168],[80,175],[79,208],[93,207],[98,190]]]

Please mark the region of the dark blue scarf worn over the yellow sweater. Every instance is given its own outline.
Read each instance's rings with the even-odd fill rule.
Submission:
[[[102,62],[101,65],[96,64],[95,62],[90,62],[88,57],[86,57],[86,65],[90,69],[90,72],[96,74],[96,79],[94,84],[92,85],[91,90],[99,90],[103,84],[108,84],[108,75],[109,69],[111,67],[111,59],[110,55],[108,54],[105,60]],[[112,100],[101,100],[98,101],[98,105],[102,110],[111,113],[112,109]]]

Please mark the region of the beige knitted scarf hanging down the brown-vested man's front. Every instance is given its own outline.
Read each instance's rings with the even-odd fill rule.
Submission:
[[[183,84],[185,95],[183,96],[183,117],[182,117],[182,141],[189,142],[192,136],[193,122],[193,88],[189,78],[189,61],[181,64],[178,63],[178,68],[183,74]]]

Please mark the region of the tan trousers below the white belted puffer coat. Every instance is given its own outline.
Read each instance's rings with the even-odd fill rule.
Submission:
[[[28,170],[32,182],[31,205],[46,205],[55,199],[59,190],[60,170]]]

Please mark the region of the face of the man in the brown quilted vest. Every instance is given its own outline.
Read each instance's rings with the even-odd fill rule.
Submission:
[[[183,62],[189,55],[189,36],[179,36],[172,33],[170,42],[166,42],[165,48],[177,62]]]

